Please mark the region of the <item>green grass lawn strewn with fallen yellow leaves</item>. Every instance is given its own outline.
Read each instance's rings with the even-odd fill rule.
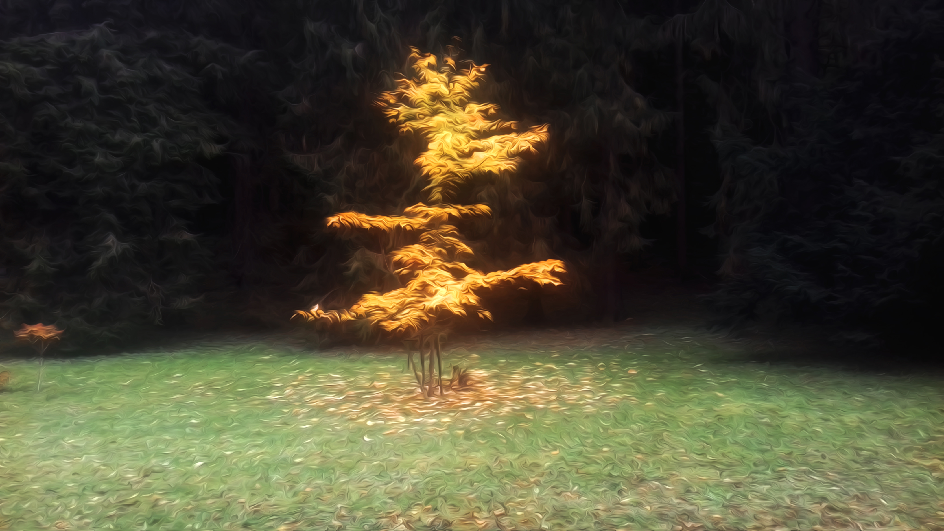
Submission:
[[[11,362],[0,529],[944,529],[939,378],[686,339]]]

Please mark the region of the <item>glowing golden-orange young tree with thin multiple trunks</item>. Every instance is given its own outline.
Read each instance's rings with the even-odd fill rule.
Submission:
[[[439,393],[443,394],[443,366],[440,337],[456,318],[491,318],[477,295],[498,283],[531,280],[560,285],[564,263],[545,260],[507,271],[482,273],[464,264],[475,253],[460,240],[453,222],[472,216],[489,216],[486,205],[452,204],[465,181],[488,174],[508,177],[521,163],[520,155],[536,154],[548,140],[548,126],[519,130],[516,122],[497,117],[498,106],[473,103],[472,92],[480,86],[484,65],[464,71],[451,58],[438,64],[432,55],[413,48],[414,77],[400,79],[396,90],[383,93],[378,104],[396,124],[400,134],[413,133],[428,142],[427,150],[415,161],[429,180],[424,189],[426,204],[406,208],[403,215],[366,215],[355,212],[328,218],[328,226],[340,231],[378,229],[418,234],[418,243],[391,252],[391,264],[403,287],[387,293],[368,293],[347,310],[299,310],[295,315],[309,321],[340,324],[366,320],[372,329],[400,337],[418,339],[420,370],[413,353],[407,367],[424,396],[435,385],[433,355],[439,368]],[[295,316],[293,316],[295,317]],[[426,351],[426,352],[424,352]],[[429,357],[429,373],[425,358]]]

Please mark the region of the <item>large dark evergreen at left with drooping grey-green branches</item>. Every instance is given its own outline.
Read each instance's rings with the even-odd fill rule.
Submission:
[[[0,43],[0,256],[5,320],[101,340],[199,299],[218,200],[199,162],[235,124],[208,81],[244,56],[199,36],[109,26]]]

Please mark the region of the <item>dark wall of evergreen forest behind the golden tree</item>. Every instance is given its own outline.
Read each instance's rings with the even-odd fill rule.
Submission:
[[[827,325],[935,357],[939,2],[0,1],[0,323],[65,347],[280,328],[396,286],[330,214],[420,199],[372,105],[409,46],[487,63],[551,139],[464,227],[482,269],[559,258],[496,322],[629,315],[672,276],[721,327]],[[476,323],[478,327],[481,323]],[[484,325],[482,325],[484,326]]]

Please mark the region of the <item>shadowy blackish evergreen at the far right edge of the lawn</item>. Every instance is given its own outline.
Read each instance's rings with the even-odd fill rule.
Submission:
[[[944,234],[944,27],[921,3],[841,8],[820,11],[833,39],[825,68],[811,73],[807,59],[784,71],[776,140],[719,119],[727,255],[711,301],[729,324],[767,314],[899,341],[933,330],[941,312],[929,272]]]

